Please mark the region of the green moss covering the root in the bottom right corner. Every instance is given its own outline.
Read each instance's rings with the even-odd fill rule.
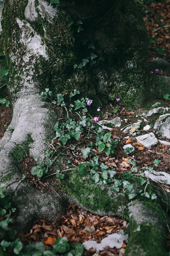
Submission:
[[[136,256],[135,250],[141,248],[145,256],[167,256],[166,230],[153,224],[140,224],[140,231],[135,231],[137,225],[131,223],[130,239],[126,246],[125,254]],[[142,253],[145,252],[145,254]],[[133,253],[132,253],[133,252]],[[139,252],[139,251],[138,251]],[[138,254],[139,255],[139,254]]]

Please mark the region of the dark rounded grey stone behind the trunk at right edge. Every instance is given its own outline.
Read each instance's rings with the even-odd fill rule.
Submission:
[[[165,59],[153,59],[148,64],[149,69],[162,69],[163,71],[169,72],[170,71],[170,63]]]

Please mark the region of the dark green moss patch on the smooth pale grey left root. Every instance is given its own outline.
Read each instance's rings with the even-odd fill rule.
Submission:
[[[22,159],[29,155],[29,145],[31,143],[33,143],[33,139],[31,138],[31,135],[28,134],[26,141],[24,141],[22,144],[16,144],[14,150],[10,154],[16,167],[18,167],[19,162]]]

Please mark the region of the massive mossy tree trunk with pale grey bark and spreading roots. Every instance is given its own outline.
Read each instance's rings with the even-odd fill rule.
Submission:
[[[37,218],[56,218],[65,208],[57,194],[62,196],[63,192],[41,194],[29,183],[19,181],[18,163],[28,153],[39,160],[45,158],[46,141],[52,138],[57,120],[57,113],[39,99],[40,91],[50,88],[65,94],[79,89],[82,96],[104,101],[119,97],[122,104],[133,106],[158,95],[163,83],[147,71],[146,29],[133,1],[61,0],[59,6],[52,6],[45,0],[6,0],[1,23],[13,118],[0,141],[0,176],[14,190],[17,223],[24,229]],[[101,201],[109,198],[111,204],[87,204],[74,191],[73,184],[80,183],[77,179],[73,173],[63,182],[67,193],[63,198],[100,214],[130,216],[126,255],[166,255],[160,206],[153,213],[153,205],[149,210],[147,204],[131,203],[125,215],[126,202],[120,206],[119,198],[109,198],[110,191],[102,188],[93,200],[100,201],[101,193]],[[152,239],[147,241],[147,234],[141,243],[145,232],[150,232]],[[155,244],[157,237],[161,239]]]

